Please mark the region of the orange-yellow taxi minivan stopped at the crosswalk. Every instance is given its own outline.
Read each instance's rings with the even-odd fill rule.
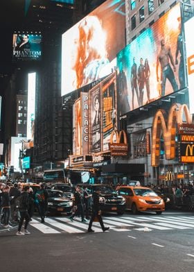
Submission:
[[[127,210],[133,214],[138,212],[156,212],[161,214],[165,210],[164,200],[152,189],[141,186],[119,186],[116,191],[125,198]]]

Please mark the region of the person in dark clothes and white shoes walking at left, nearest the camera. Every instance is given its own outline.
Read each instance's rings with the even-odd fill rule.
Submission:
[[[19,208],[19,213],[20,213],[20,220],[19,220],[19,225],[17,229],[17,234],[16,235],[30,235],[30,232],[27,230],[28,228],[28,223],[30,221],[30,216],[28,214],[28,207],[29,207],[29,193],[30,187],[26,186],[24,187],[24,191],[21,192],[21,196],[17,198],[17,205]],[[24,224],[24,232],[21,232],[21,227],[23,225],[25,219],[25,224]]]

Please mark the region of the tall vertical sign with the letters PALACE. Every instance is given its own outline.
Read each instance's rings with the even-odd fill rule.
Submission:
[[[82,109],[82,154],[89,153],[89,94],[80,93]]]

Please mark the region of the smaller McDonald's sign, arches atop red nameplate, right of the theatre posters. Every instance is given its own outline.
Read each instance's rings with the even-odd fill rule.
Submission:
[[[121,142],[123,140],[123,143]],[[112,130],[109,142],[112,156],[126,156],[128,151],[127,135],[124,130]]]

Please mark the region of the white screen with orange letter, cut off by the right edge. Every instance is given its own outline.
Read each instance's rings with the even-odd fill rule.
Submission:
[[[186,60],[187,60],[187,77],[188,77],[188,97],[189,110],[194,113],[194,49],[193,49],[193,24],[194,17],[184,24],[185,43],[186,43]]]

